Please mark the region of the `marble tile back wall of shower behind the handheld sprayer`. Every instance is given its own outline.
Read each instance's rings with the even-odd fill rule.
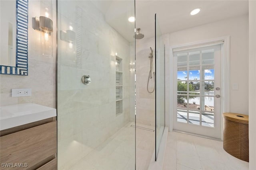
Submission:
[[[131,47],[134,43],[131,43]],[[136,40],[136,122],[144,125],[155,125],[155,93],[147,91],[150,70],[150,47],[155,51],[154,38]],[[155,71],[153,59],[153,69]],[[152,74],[153,75],[153,74]],[[153,78],[149,81],[149,90],[154,89]]]

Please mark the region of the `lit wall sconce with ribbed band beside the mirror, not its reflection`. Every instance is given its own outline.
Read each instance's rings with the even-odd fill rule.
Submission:
[[[41,54],[43,57],[52,57],[52,31],[53,21],[48,18],[48,8],[45,8],[45,16],[32,18],[33,28],[41,32]]]

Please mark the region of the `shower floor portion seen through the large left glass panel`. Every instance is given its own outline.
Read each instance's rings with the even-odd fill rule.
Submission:
[[[122,127],[69,170],[130,170],[135,164],[134,127]]]

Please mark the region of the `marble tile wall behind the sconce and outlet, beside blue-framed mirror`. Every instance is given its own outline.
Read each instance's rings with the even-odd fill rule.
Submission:
[[[53,57],[40,55],[40,32],[32,28],[32,17],[41,16],[41,9],[52,10],[54,31]],[[28,76],[0,74],[0,106],[35,103],[56,107],[56,2],[33,0],[28,3]],[[13,88],[31,88],[32,96],[11,97]]]

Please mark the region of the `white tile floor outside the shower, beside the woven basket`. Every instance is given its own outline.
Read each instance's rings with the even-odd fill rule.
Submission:
[[[169,132],[164,170],[248,170],[249,163],[228,154],[222,142]]]

